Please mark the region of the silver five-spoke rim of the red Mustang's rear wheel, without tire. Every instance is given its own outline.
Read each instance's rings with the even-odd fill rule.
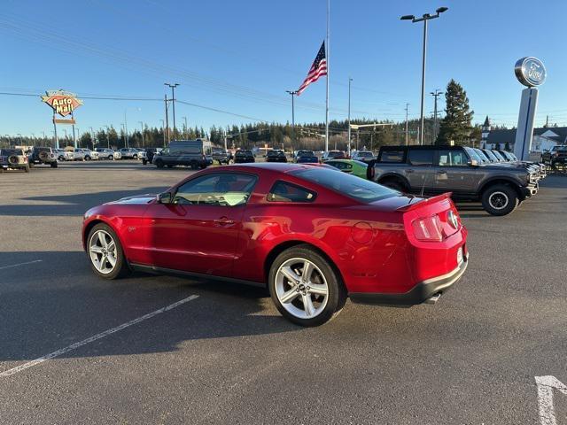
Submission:
[[[276,296],[288,313],[312,319],[329,299],[329,285],[319,267],[308,259],[288,259],[276,272]]]

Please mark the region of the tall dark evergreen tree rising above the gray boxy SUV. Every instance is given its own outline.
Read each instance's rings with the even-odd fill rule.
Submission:
[[[467,92],[454,80],[447,84],[445,104],[446,115],[441,120],[436,143],[449,144],[451,141],[456,144],[468,143],[472,130],[470,121],[474,112],[470,111]]]

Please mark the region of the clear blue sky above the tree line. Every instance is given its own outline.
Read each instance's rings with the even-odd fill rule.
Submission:
[[[536,56],[548,69],[537,125],[567,125],[567,2],[331,0],[330,118],[345,119],[347,81],[352,115],[403,120],[419,115],[423,24],[400,15],[449,8],[430,21],[426,89],[462,83],[475,122],[488,114],[515,125],[522,86],[513,66]],[[4,0],[0,11],[0,91],[67,89],[80,96],[163,98],[165,81],[192,104],[260,120],[291,120],[286,89],[297,89],[325,35],[326,0],[173,1]],[[324,121],[324,79],[296,100],[296,121]],[[51,135],[50,108],[39,97],[0,96],[0,134]],[[440,107],[443,107],[443,102]],[[160,126],[163,102],[85,99],[77,127],[86,131],[139,121]],[[426,112],[432,112],[432,97]],[[250,122],[176,104],[177,126],[209,128]]]

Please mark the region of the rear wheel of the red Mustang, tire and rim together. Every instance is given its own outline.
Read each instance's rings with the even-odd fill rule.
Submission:
[[[307,245],[277,256],[269,270],[268,287],[277,310],[300,326],[330,321],[346,302],[346,289],[338,273]]]

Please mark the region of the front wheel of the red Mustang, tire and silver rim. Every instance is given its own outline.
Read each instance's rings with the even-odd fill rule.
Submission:
[[[87,253],[93,272],[105,279],[117,279],[128,274],[128,264],[122,245],[113,229],[98,223],[90,229]]]

